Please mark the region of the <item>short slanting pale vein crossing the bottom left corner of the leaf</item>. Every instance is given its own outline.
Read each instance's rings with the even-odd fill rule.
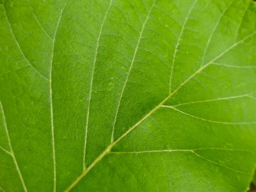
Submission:
[[[0,101],[0,108],[3,111],[3,105],[1,103],[1,101]],[[10,136],[9,136],[9,131],[8,131],[7,124],[6,124],[6,118],[5,118],[5,115],[4,115],[4,111],[3,111],[3,122],[4,122],[4,128],[5,128],[5,131],[6,131],[6,135],[7,135],[7,139],[8,139],[8,144],[9,144],[9,148],[10,148],[10,153],[9,154],[12,156],[12,159],[14,161],[15,168],[17,169],[18,175],[20,177],[20,181],[22,183],[23,189],[24,189],[25,192],[27,192],[26,185],[24,183],[23,177],[22,177],[21,172],[20,172],[20,168],[19,168],[17,160],[15,158],[15,154],[14,154],[14,152],[12,150],[12,143],[11,143],[11,139],[10,139]]]

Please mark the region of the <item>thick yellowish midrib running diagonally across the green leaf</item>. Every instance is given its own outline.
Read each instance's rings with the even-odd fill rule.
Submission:
[[[79,177],[77,177],[77,179],[65,190],[65,192],[69,192],[70,189],[72,189],[74,186],[76,186],[77,183],[79,183],[79,181],[90,171],[90,169],[92,169],[100,160],[102,160],[103,157],[105,157],[107,154],[110,153],[111,148],[113,148],[114,145],[116,145],[116,143],[118,143],[120,140],[122,140],[122,138],[124,138],[126,135],[128,135],[132,130],[134,130],[134,128],[136,128],[138,125],[140,125],[141,122],[143,122],[145,119],[147,119],[152,113],[154,113],[154,111],[156,111],[158,108],[162,107],[162,105],[174,94],[176,93],[181,87],[183,87],[184,84],[186,84],[190,79],[192,79],[193,77],[195,77],[198,73],[200,73],[204,68],[206,68],[207,66],[209,66],[210,64],[212,64],[212,62],[216,61],[218,58],[220,58],[222,55],[224,55],[225,53],[229,52],[231,49],[233,49],[234,47],[236,47],[237,45],[241,44],[242,42],[244,42],[247,38],[252,37],[253,35],[255,35],[256,32],[253,32],[252,34],[248,35],[247,37],[245,37],[244,39],[242,39],[241,41],[233,44],[233,46],[229,47],[228,49],[226,49],[224,52],[222,52],[220,55],[217,55],[215,58],[212,59],[212,61],[209,61],[209,63],[207,63],[206,65],[204,65],[203,67],[200,67],[195,73],[193,73],[188,79],[186,79],[182,84],[180,84],[179,87],[177,87],[172,93],[170,93],[162,102],[160,102],[154,109],[152,109],[148,114],[146,114],[142,119],[140,119],[140,121],[138,121],[134,126],[132,126],[131,128],[128,129],[128,131],[126,131],[124,134],[122,134],[121,137],[119,137],[117,140],[113,141],[106,149],[105,151],[102,152],[102,154],[100,154],[94,161],[93,163],[90,164],[90,166],[87,169],[84,169],[84,171],[81,173],[81,175],[79,175]]]

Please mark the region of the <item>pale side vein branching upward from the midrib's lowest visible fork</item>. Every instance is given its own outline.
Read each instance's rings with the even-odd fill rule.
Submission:
[[[89,122],[89,113],[90,113],[90,100],[91,100],[92,88],[93,88],[93,76],[94,76],[95,64],[96,64],[97,55],[98,55],[98,49],[99,49],[99,39],[100,39],[100,36],[102,34],[102,28],[103,28],[103,25],[104,25],[105,20],[107,18],[108,11],[110,9],[111,3],[112,3],[112,0],[110,0],[108,9],[107,9],[107,11],[105,13],[105,17],[104,17],[104,19],[102,21],[102,25],[101,25],[100,30],[99,30],[99,36],[98,36],[98,39],[97,39],[95,56],[94,56],[94,59],[93,59],[93,71],[92,71],[92,76],[91,76],[91,81],[90,81],[89,102],[88,102],[87,119],[86,119],[85,136],[84,136],[84,159],[83,159],[83,168],[84,169],[85,169],[85,152],[86,152],[86,144],[87,144],[88,122]]]

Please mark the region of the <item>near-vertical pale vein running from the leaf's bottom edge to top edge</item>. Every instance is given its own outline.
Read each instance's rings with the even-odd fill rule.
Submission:
[[[55,39],[56,39],[56,34],[58,31],[59,24],[61,22],[61,17],[63,15],[63,11],[67,6],[66,1],[64,8],[61,10],[61,15],[58,19],[57,26],[56,26],[56,31],[52,40],[52,58],[51,58],[51,63],[50,63],[50,75],[49,75],[49,89],[50,89],[50,108],[51,108],[51,128],[52,128],[52,159],[53,159],[53,192],[56,192],[56,160],[55,160],[55,140],[54,140],[54,125],[53,125],[53,107],[52,107],[52,62],[53,62],[53,55],[54,55],[54,47],[55,47]]]

